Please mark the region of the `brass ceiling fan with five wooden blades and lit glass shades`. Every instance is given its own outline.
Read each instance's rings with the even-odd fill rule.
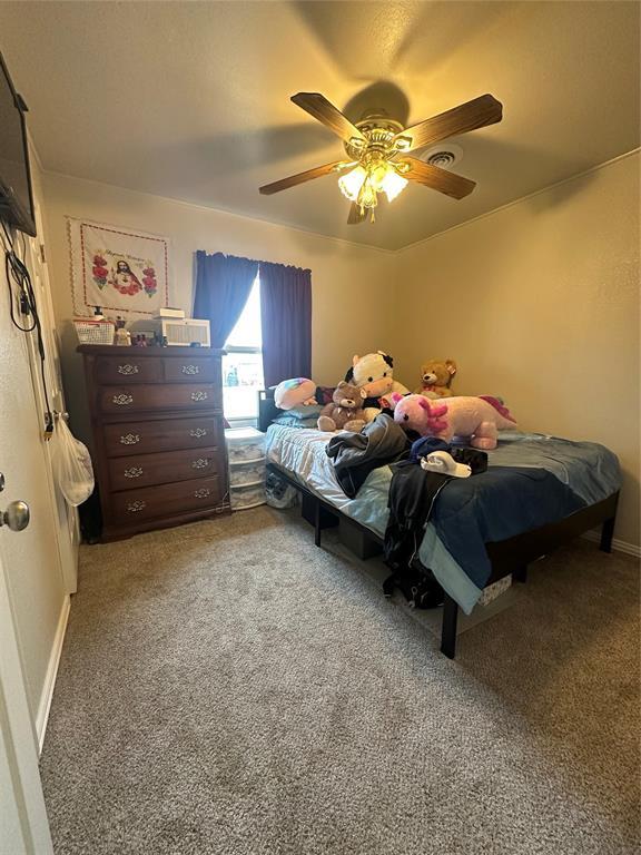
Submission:
[[[408,128],[403,128],[398,121],[382,112],[367,115],[353,124],[319,92],[298,92],[292,96],[292,100],[341,137],[348,159],[334,160],[266,184],[260,187],[260,193],[279,193],[313,178],[349,169],[341,176],[338,186],[352,202],[347,217],[351,225],[366,219],[367,210],[374,222],[378,194],[385,193],[392,202],[408,180],[454,199],[467,196],[476,186],[475,181],[411,157],[408,153],[447,137],[494,125],[503,117],[502,104],[491,95],[482,95]]]

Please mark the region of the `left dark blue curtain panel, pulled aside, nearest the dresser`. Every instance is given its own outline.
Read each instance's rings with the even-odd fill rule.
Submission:
[[[223,347],[247,303],[258,262],[234,255],[196,253],[194,317],[209,321],[211,347]]]

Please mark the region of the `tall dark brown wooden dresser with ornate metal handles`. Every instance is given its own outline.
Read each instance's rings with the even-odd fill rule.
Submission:
[[[221,351],[82,344],[102,540],[229,510]]]

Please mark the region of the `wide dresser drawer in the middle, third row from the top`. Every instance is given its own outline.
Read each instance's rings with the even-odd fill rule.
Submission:
[[[223,442],[223,420],[205,415],[106,424],[103,430],[108,458],[175,449],[218,449]]]

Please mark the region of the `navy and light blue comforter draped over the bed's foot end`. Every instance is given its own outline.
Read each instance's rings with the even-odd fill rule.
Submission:
[[[487,472],[465,479],[469,488],[443,490],[418,551],[467,613],[490,577],[486,542],[561,520],[621,489],[617,455],[595,442],[505,431],[487,462]]]

